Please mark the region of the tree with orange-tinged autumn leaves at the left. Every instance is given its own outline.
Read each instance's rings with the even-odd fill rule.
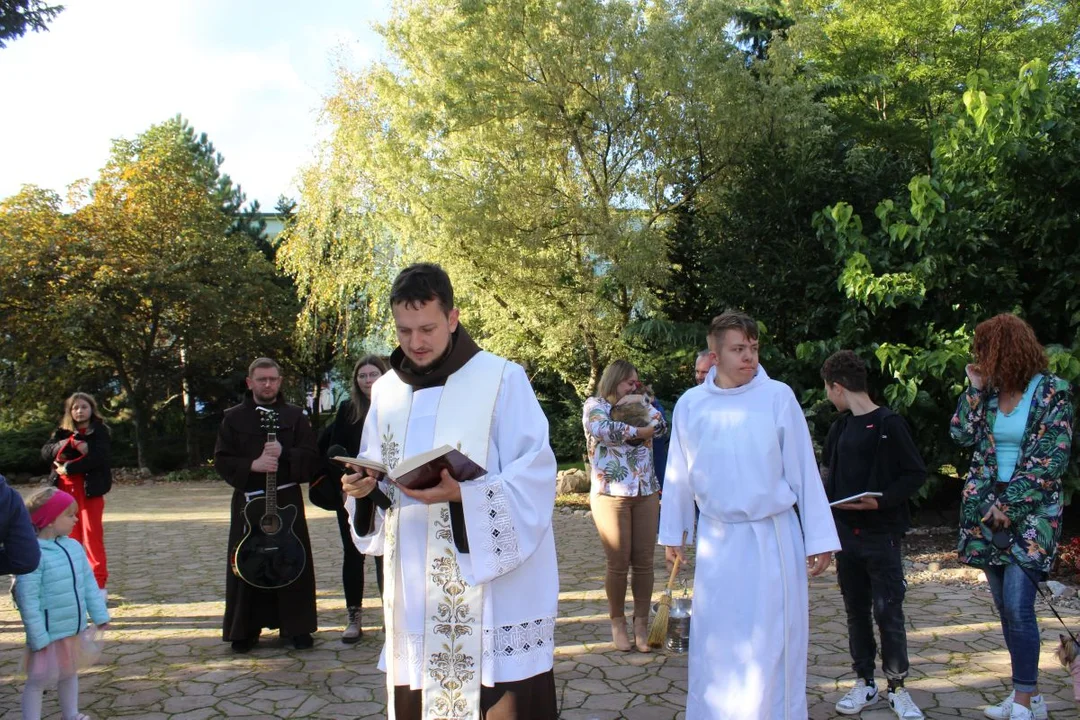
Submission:
[[[51,365],[69,378],[108,372],[141,466],[163,407],[183,398],[191,419],[199,378],[283,348],[291,326],[272,266],[228,232],[235,191],[219,165],[205,136],[175,118],[117,140],[98,179],[75,187],[73,214],[35,189],[0,214],[2,282],[17,290],[0,304],[5,350],[52,394],[62,389]]]

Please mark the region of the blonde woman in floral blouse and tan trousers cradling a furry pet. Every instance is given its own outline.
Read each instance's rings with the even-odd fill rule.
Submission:
[[[637,369],[619,359],[585,400],[582,422],[589,445],[590,504],[607,557],[604,590],[611,640],[622,651],[649,652],[649,603],[660,516],[660,484],[649,447],[667,434],[663,415],[642,393]],[[634,642],[626,633],[626,573],[634,597]]]

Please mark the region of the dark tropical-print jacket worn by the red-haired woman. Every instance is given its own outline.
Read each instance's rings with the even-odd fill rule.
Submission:
[[[971,470],[960,499],[960,561],[976,568],[1015,563],[1049,572],[1062,534],[1062,475],[1072,446],[1072,392],[1069,383],[1044,375],[1035,395],[1012,480],[1000,497],[994,445],[998,415],[995,391],[968,388],[956,408],[949,434],[964,447],[974,447]],[[993,531],[983,524],[980,506],[996,500],[1009,517],[1013,544],[999,551]]]

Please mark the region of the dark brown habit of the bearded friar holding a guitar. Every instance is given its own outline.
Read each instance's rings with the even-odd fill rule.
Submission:
[[[262,454],[267,441],[255,400],[247,393],[244,400],[225,412],[214,448],[214,467],[232,486],[232,520],[229,525],[229,552],[226,559],[225,626],[226,640],[246,640],[262,628],[281,628],[282,635],[314,633],[315,571],[311,559],[311,539],[303,515],[303,492],[299,485],[278,492],[278,504],[296,505],[294,531],[308,551],[303,573],[292,584],[276,590],[252,587],[232,573],[231,558],[244,536],[245,492],[266,490],[266,474],[253,473],[252,462]],[[278,461],[278,486],[308,483],[318,467],[315,434],[308,418],[295,405],[279,396],[271,405],[278,411],[278,441],[282,452]]]

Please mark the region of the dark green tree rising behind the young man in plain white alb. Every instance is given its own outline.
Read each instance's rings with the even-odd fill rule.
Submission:
[[[742,309],[765,326],[762,362],[797,391],[818,381],[796,348],[832,334],[838,317],[837,269],[810,220],[858,187],[845,140],[784,43],[738,79],[726,114],[745,130],[729,131],[738,141],[723,149],[715,180],[676,215],[671,280],[658,288],[658,312],[631,328],[635,361],[664,397],[691,381],[705,328],[724,310]]]

